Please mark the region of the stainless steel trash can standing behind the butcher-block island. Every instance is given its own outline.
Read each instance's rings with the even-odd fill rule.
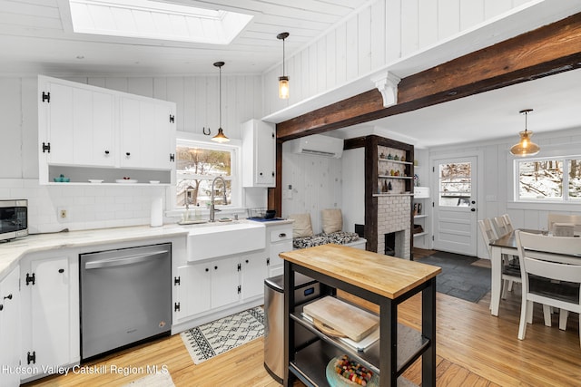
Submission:
[[[295,274],[295,305],[304,305],[319,297],[320,284],[314,279]],[[295,347],[315,339],[306,328],[295,326]],[[284,276],[264,280],[264,368],[282,383],[284,345]]]

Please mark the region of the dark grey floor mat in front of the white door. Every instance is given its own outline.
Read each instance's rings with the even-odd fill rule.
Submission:
[[[418,262],[442,268],[442,273],[436,277],[436,290],[439,293],[471,303],[478,303],[490,291],[490,268],[473,265],[478,260],[474,256],[443,251],[417,259]]]

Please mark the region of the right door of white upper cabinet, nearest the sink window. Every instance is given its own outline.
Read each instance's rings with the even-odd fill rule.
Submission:
[[[123,168],[172,168],[175,142],[172,141],[174,120],[171,105],[149,98],[121,97]]]

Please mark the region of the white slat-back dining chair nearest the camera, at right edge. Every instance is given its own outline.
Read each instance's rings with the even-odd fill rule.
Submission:
[[[518,339],[524,340],[527,323],[532,323],[533,303],[559,308],[561,321],[567,311],[581,314],[581,239],[519,230],[515,237],[522,278]],[[579,333],[581,345],[581,318]]]

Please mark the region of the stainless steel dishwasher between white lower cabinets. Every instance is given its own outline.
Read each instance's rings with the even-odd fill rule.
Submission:
[[[81,357],[170,334],[172,244],[80,256]]]

